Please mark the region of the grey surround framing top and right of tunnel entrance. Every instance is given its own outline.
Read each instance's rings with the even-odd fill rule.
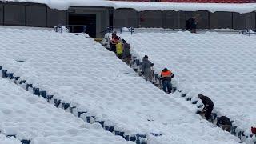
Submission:
[[[102,31],[109,26],[108,8],[70,7],[69,12],[74,14],[96,14],[96,37],[101,37]]]

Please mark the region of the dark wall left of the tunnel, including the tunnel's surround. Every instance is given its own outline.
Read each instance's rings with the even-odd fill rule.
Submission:
[[[96,36],[109,26],[109,8],[70,7],[68,10],[54,10],[45,4],[29,2],[0,2],[0,25],[54,27],[69,24],[69,14],[95,14]]]

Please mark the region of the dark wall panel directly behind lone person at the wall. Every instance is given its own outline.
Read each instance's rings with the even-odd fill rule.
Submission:
[[[209,29],[209,12],[208,11],[187,11],[186,20],[196,16],[198,18],[197,29]]]

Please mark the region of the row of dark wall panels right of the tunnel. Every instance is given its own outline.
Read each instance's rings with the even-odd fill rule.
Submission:
[[[126,15],[124,17],[123,15]],[[114,27],[162,27],[185,29],[186,19],[197,15],[198,29],[255,29],[255,12],[239,14],[234,12],[146,10],[137,12],[132,9],[114,11]]]

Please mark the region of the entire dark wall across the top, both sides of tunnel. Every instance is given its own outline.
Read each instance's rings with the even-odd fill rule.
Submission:
[[[106,26],[114,27],[162,27],[185,29],[186,19],[199,15],[198,29],[230,28],[236,30],[255,29],[255,12],[239,14],[218,11],[211,13],[201,11],[117,9],[112,7],[78,6],[68,10],[50,9],[45,4],[28,2],[0,2],[0,25],[53,27],[67,25],[69,14],[73,12],[97,15],[96,32],[100,37]],[[80,13],[79,12],[79,13]]]

